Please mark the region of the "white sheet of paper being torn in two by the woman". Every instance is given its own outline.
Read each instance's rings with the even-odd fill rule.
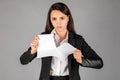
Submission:
[[[39,47],[37,49],[37,58],[54,56],[60,59],[72,54],[76,48],[69,43],[63,43],[56,47],[53,34],[39,35]]]

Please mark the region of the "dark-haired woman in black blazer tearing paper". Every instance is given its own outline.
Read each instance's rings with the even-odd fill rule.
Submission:
[[[68,42],[76,50],[63,60],[56,57],[41,58],[42,67],[39,80],[80,80],[79,66],[96,69],[103,67],[102,59],[81,35],[76,34],[70,10],[63,3],[55,3],[49,9],[45,32],[42,34],[51,33],[55,34],[56,46]],[[28,64],[36,57],[38,40],[39,38],[35,37],[30,48],[21,55],[22,64]]]

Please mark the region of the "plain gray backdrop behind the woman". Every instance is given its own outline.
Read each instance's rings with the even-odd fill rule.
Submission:
[[[68,5],[77,33],[104,61],[100,70],[81,67],[82,80],[119,80],[120,0],[0,0],[0,80],[38,80],[41,60],[21,65],[19,58],[57,1]]]

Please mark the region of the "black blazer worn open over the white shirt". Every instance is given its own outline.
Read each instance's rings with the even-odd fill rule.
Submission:
[[[79,75],[79,66],[90,67],[100,69],[103,67],[102,59],[96,54],[96,52],[86,43],[84,38],[78,34],[74,34],[69,32],[68,35],[68,43],[77,49],[82,51],[82,64],[76,62],[73,55],[68,56],[68,68],[69,68],[69,79],[70,80],[81,80]],[[30,54],[31,48],[29,48],[26,52],[24,52],[20,61],[21,64],[28,64],[31,62],[36,56]],[[41,65],[41,73],[39,80],[50,80],[50,69],[51,69],[51,60],[52,57],[44,57],[42,59]]]

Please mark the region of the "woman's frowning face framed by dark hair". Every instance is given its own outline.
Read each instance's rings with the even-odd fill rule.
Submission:
[[[50,14],[50,20],[57,32],[67,31],[69,16],[59,10],[53,10]]]

